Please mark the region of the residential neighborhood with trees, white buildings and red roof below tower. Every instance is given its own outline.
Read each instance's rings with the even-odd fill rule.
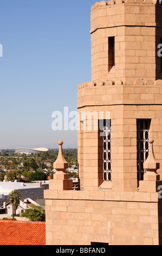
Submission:
[[[68,149],[64,153],[69,161],[66,172],[69,179],[73,179],[75,189],[78,185],[77,151]],[[0,245],[46,244],[44,190],[48,190],[49,180],[53,179],[56,172],[53,162],[57,154],[58,150],[49,150],[48,153],[20,156],[15,150],[1,150]],[[21,195],[15,215],[9,197],[13,191],[19,191]],[[10,232],[6,233],[8,228]],[[16,236],[13,235],[15,228]]]

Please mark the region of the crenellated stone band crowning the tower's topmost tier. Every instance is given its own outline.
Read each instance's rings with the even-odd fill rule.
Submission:
[[[156,15],[155,15],[156,13]],[[162,1],[109,0],[91,8],[92,34],[96,29],[116,26],[158,26],[162,21]]]

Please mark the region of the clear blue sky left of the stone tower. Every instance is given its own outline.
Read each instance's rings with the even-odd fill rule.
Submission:
[[[51,114],[76,111],[77,86],[91,80],[95,2],[1,0],[0,149],[76,145],[77,132],[51,129]]]

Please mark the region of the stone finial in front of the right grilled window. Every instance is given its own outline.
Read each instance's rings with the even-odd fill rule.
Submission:
[[[153,153],[153,139],[150,139],[148,141],[150,143],[150,152],[147,157],[147,160],[144,162],[144,169],[147,170],[147,172],[155,172],[157,173],[157,170],[160,168],[159,162],[155,159],[154,153]]]

